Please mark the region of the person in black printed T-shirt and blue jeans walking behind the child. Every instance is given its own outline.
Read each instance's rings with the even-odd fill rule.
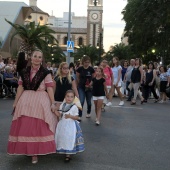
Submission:
[[[86,98],[87,102],[87,115],[86,117],[90,117],[91,112],[91,98],[92,98],[92,91],[91,88],[88,88],[92,78],[94,77],[94,69],[90,66],[90,57],[83,56],[82,58],[82,66],[80,66],[76,70],[76,78],[77,78],[77,86],[78,92],[80,96],[80,102],[83,107],[84,101]],[[82,117],[82,111],[79,110],[79,117]],[[80,120],[79,119],[79,120]]]

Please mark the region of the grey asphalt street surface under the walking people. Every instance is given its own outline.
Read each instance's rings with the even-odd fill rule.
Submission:
[[[135,106],[113,98],[102,112],[101,125],[84,115],[81,122],[86,150],[64,163],[63,155],[40,156],[36,165],[27,156],[6,153],[13,100],[0,99],[0,170],[170,170],[170,102],[150,100]]]

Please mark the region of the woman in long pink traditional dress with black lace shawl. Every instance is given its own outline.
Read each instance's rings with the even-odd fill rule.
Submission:
[[[31,66],[21,72],[8,141],[8,154],[32,156],[32,163],[37,155],[56,153],[53,81],[42,63],[42,52],[35,50]]]

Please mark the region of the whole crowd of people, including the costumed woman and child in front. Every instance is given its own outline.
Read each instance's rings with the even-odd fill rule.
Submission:
[[[93,66],[84,55],[76,65],[62,62],[57,68],[45,63],[38,49],[29,60],[23,53],[19,57],[17,62],[10,58],[4,63],[0,56],[1,82],[17,88],[8,153],[32,156],[32,163],[38,162],[38,155],[56,152],[65,154],[69,162],[71,154],[84,151],[78,121],[83,111],[86,118],[91,117],[92,100],[95,124],[100,125],[102,109],[112,105],[114,96],[119,97],[120,107],[125,99],[136,105],[137,97],[141,104],[147,103],[151,93],[155,103],[170,97],[170,68],[157,62],[143,65],[140,58],[119,61],[115,56],[111,63],[104,59]],[[87,111],[83,110],[85,100]]]

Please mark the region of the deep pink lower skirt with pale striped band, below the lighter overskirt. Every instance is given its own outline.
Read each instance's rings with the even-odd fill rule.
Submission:
[[[54,134],[43,120],[22,116],[12,122],[7,152],[30,156],[55,153]]]

